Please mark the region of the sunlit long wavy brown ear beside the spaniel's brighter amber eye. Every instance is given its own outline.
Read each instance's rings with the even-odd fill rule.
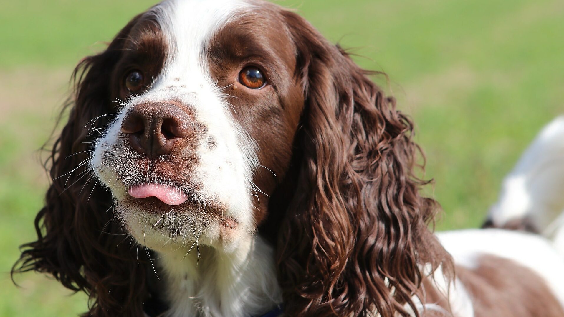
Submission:
[[[413,175],[413,125],[340,47],[285,18],[306,95],[297,190],[277,246],[286,314],[408,316],[422,267],[450,263],[428,229],[437,204]]]

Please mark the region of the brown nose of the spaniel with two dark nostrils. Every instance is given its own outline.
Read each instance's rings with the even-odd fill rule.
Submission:
[[[140,103],[127,111],[121,131],[131,147],[154,158],[169,153],[179,140],[190,136],[192,120],[171,103]]]

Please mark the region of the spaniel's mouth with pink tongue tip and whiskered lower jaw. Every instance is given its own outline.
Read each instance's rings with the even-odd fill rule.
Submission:
[[[162,183],[126,185],[126,189],[127,194],[118,199],[116,209],[127,231],[143,245],[159,249],[173,238],[173,244],[179,241],[214,244],[215,238],[230,241],[237,237],[239,220],[227,216],[227,207],[217,199],[205,199],[197,192]],[[210,236],[202,237],[202,232]],[[158,241],[161,237],[169,239],[161,245],[149,241],[151,238],[146,240],[146,234],[158,237]],[[211,240],[205,240],[210,237]]]

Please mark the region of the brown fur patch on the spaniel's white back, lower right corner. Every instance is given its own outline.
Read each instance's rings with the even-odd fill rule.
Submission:
[[[456,267],[473,299],[476,317],[562,317],[564,310],[545,281],[520,264],[486,255],[474,269]]]

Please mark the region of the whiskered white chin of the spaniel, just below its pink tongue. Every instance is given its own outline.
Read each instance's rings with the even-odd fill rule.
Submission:
[[[244,232],[237,220],[210,205],[189,201],[170,206],[155,197],[127,197],[117,202],[116,211],[139,244],[161,252],[188,251],[197,245],[228,251]]]

